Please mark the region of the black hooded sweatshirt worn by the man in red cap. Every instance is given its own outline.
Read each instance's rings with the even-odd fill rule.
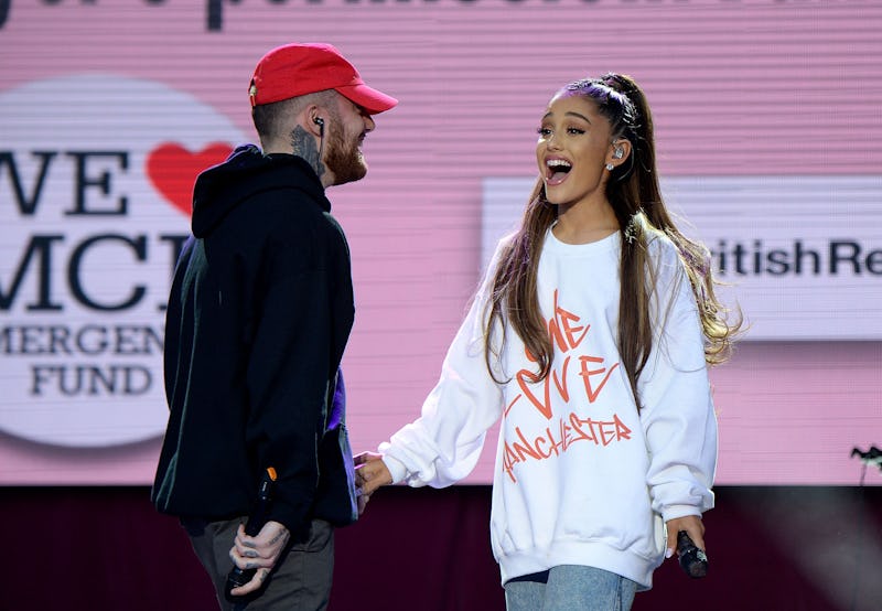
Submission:
[[[247,515],[272,467],[269,518],[294,536],[312,517],[356,518],[352,453],[336,428],[352,278],[330,211],[303,159],[250,144],[197,179],[165,321],[160,512]]]

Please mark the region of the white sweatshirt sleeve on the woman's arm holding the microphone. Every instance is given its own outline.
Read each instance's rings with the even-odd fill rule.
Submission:
[[[653,510],[665,522],[713,507],[717,418],[696,299],[674,246],[662,248],[653,351],[638,382]]]

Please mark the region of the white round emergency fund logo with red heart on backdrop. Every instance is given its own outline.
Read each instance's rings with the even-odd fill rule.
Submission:
[[[110,75],[0,93],[0,430],[66,447],[164,431],[164,310],[193,181],[245,140]]]

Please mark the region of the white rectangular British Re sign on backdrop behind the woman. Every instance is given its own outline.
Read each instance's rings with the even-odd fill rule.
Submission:
[[[534,183],[484,179],[484,266]],[[882,175],[678,176],[662,186],[681,229],[710,248],[747,339],[882,340]]]

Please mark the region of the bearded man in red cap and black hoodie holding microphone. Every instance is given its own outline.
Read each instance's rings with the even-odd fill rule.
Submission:
[[[152,499],[179,516],[223,609],[325,609],[333,527],[358,515],[338,372],[353,323],[349,254],[324,189],[367,172],[361,143],[397,100],[331,45],[255,69],[260,149],[203,172],[165,324],[171,410]],[[257,536],[261,475],[276,482]]]

